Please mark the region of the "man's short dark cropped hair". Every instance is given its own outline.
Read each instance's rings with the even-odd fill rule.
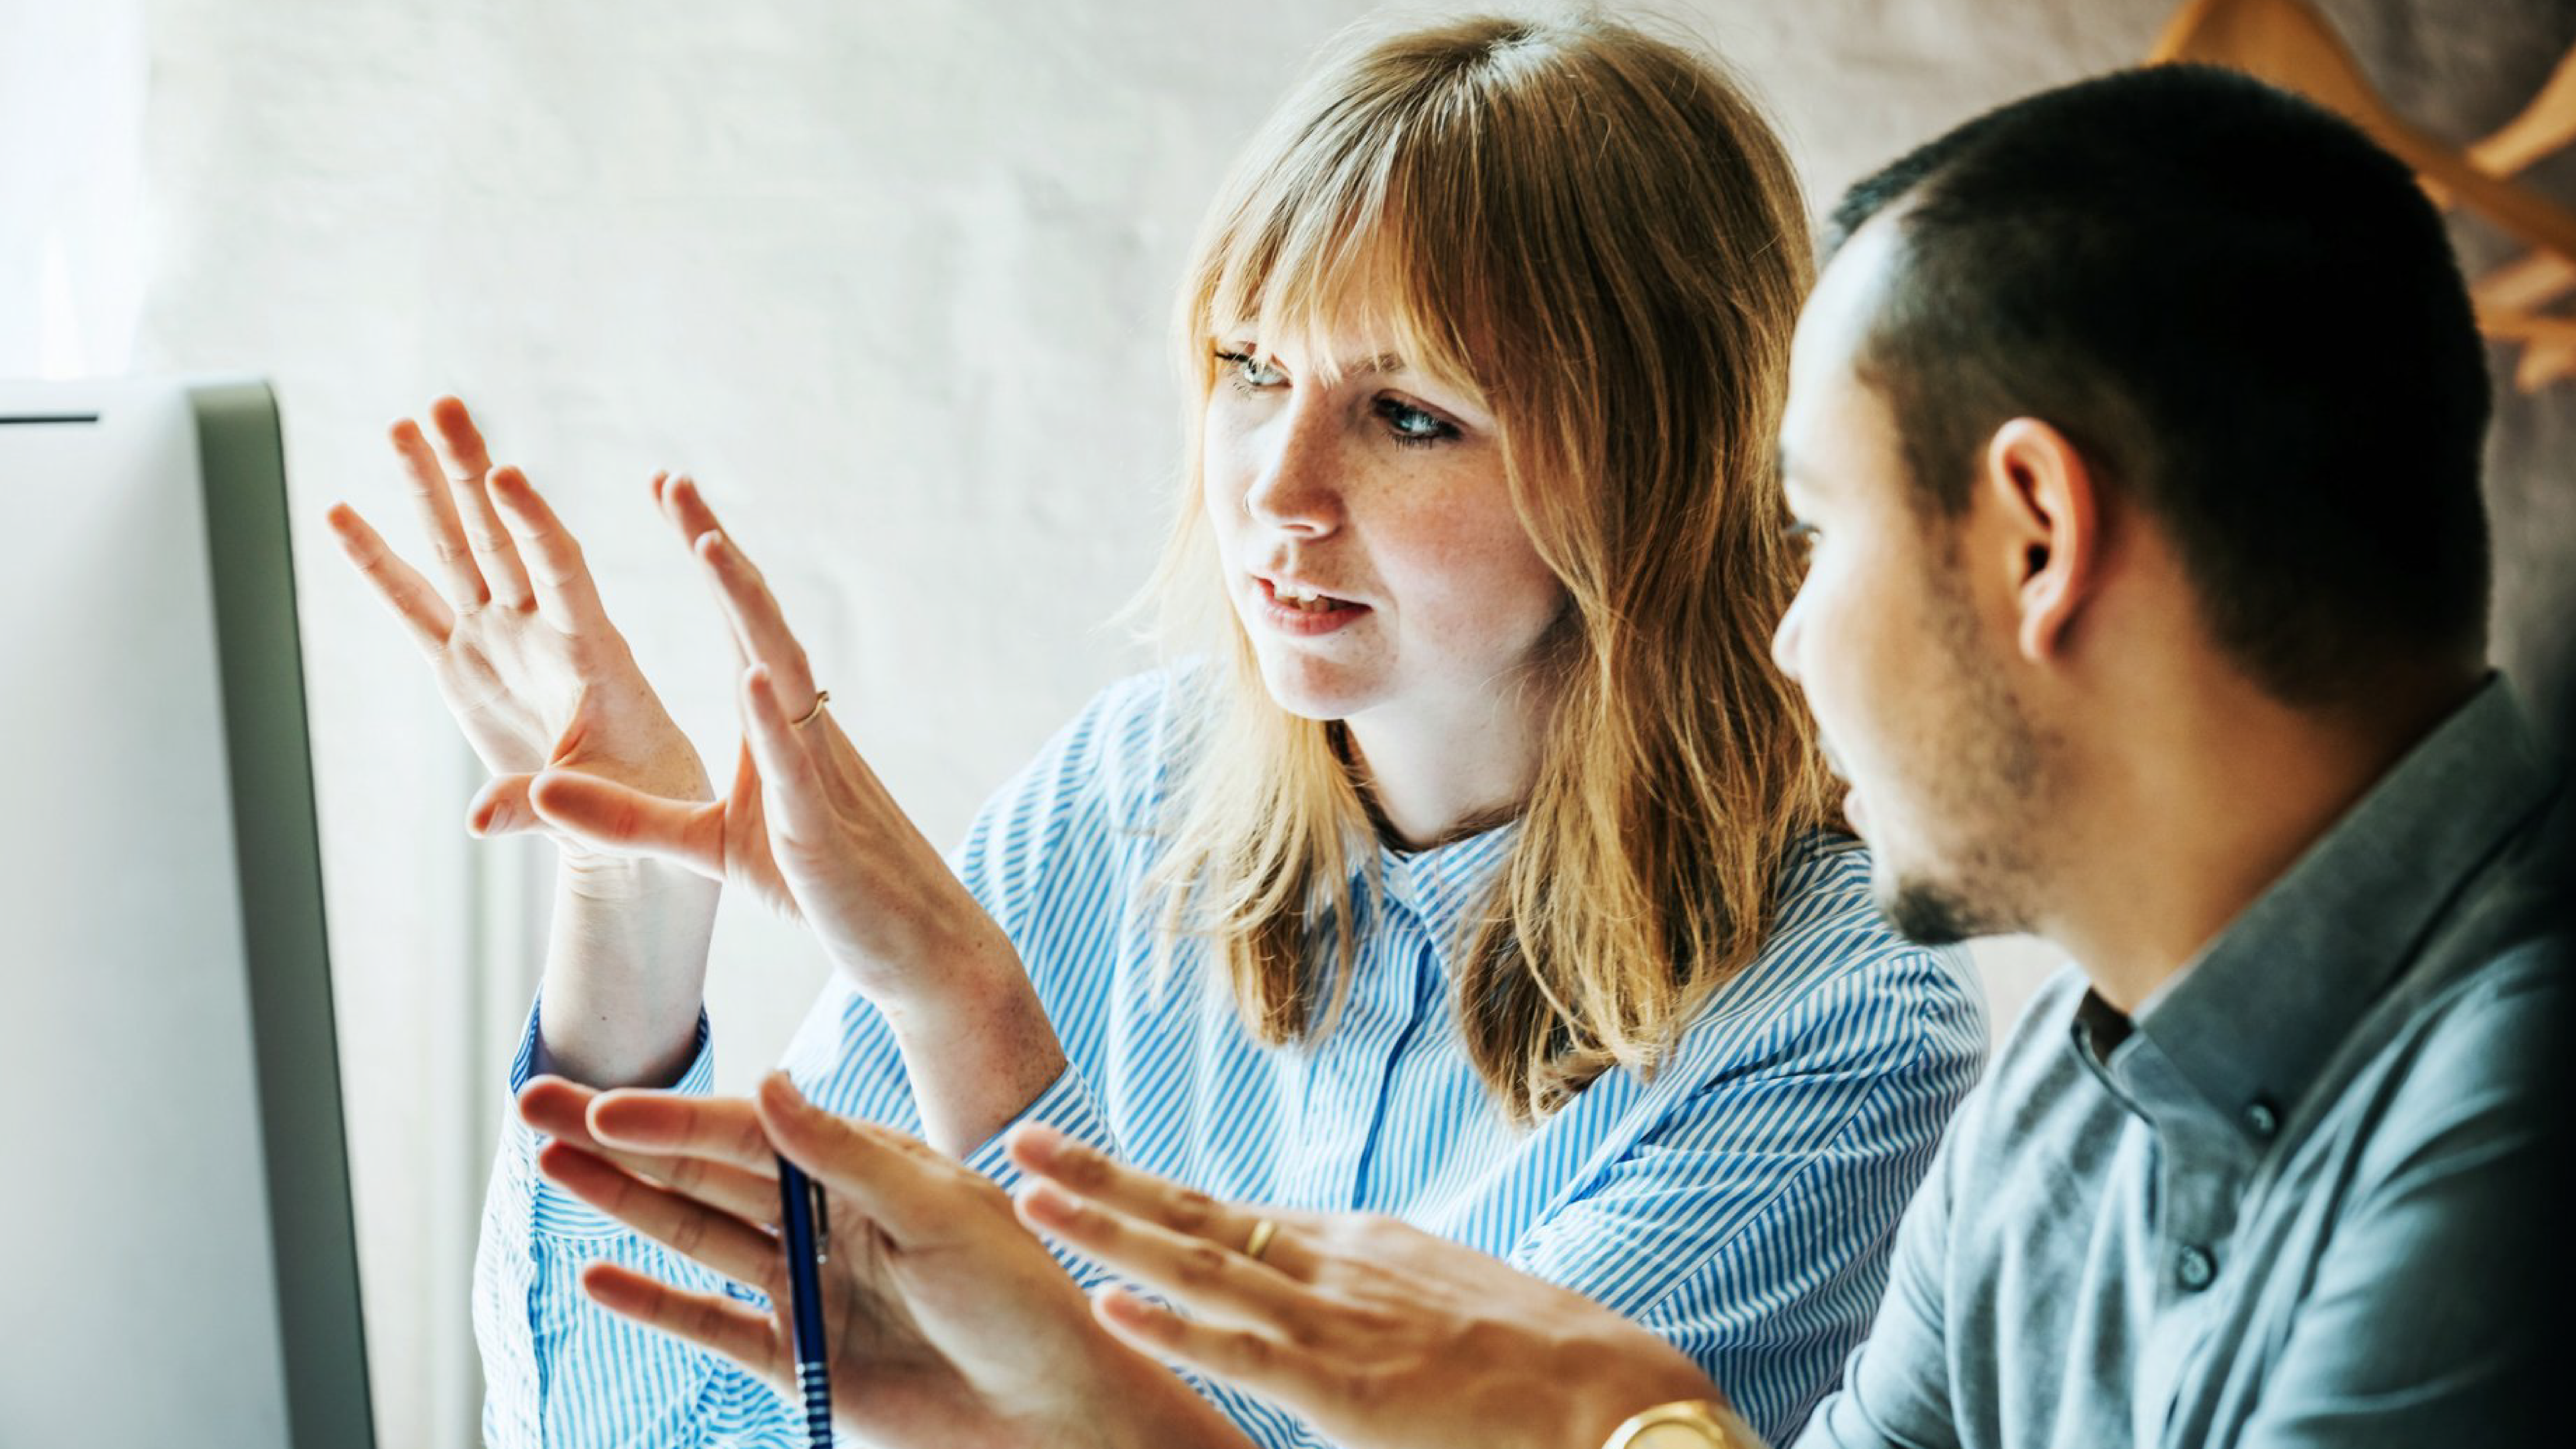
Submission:
[[[2164,525],[2269,692],[2483,654],[2486,350],[2403,162],[2257,80],[2156,67],[1958,126],[1852,185],[1826,247],[1891,206],[1860,371],[1929,515],[2038,417]]]

